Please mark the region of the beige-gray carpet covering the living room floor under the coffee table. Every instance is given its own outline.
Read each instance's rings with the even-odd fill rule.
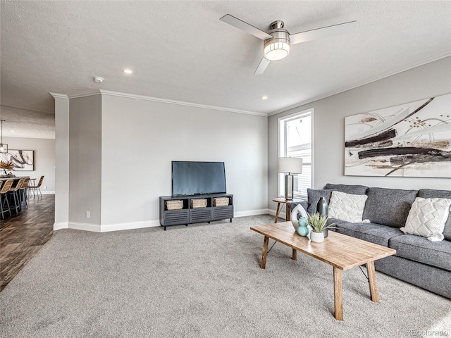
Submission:
[[[330,265],[302,253],[292,261],[276,244],[259,268],[263,236],[249,227],[272,219],[59,230],[0,293],[0,336],[451,335],[449,299],[376,272],[381,303],[373,303],[358,268],[343,273],[344,321],[335,320]]]

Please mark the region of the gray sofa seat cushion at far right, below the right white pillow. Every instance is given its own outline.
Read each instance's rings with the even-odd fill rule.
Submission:
[[[393,237],[388,246],[396,256],[451,271],[451,242],[431,242],[414,234]]]

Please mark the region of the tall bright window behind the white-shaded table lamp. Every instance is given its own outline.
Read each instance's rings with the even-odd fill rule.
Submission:
[[[311,187],[311,130],[313,108],[278,119],[279,157],[302,158],[302,174],[295,176],[294,195],[307,199],[307,188]],[[278,173],[278,194],[285,195],[285,174]]]

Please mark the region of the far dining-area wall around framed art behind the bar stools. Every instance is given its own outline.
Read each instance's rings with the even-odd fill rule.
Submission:
[[[30,176],[36,178],[44,175],[41,191],[42,194],[55,193],[55,140],[54,139],[28,139],[23,137],[4,137],[4,143],[8,144],[8,149],[34,150],[35,170],[15,171],[16,176]],[[46,187],[44,189],[44,186]]]

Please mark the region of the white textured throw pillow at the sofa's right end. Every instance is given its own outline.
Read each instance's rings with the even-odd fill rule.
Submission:
[[[407,216],[404,234],[416,234],[431,242],[443,241],[443,229],[450,213],[451,199],[423,199],[416,197]]]

